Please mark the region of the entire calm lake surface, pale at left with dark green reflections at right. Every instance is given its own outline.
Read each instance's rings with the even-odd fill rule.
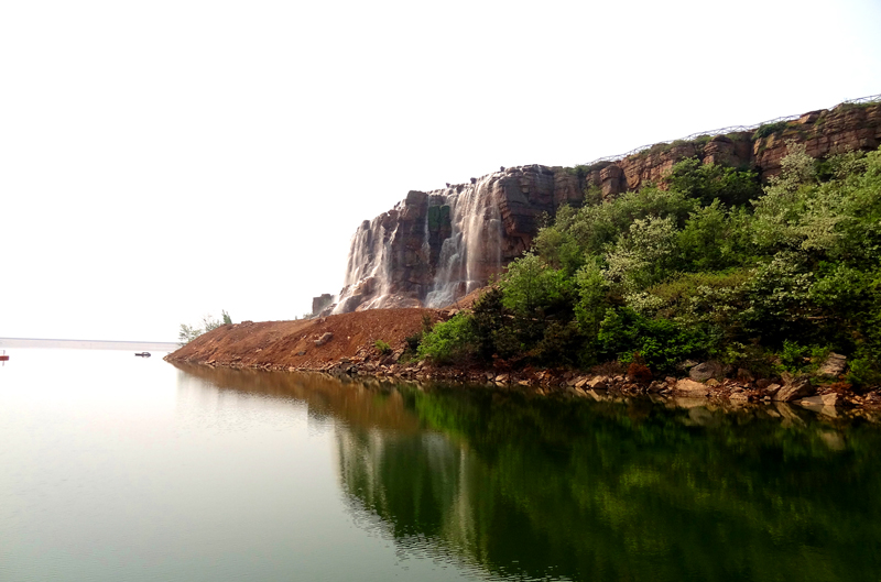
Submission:
[[[788,407],[0,367],[0,580],[881,580],[881,428]]]

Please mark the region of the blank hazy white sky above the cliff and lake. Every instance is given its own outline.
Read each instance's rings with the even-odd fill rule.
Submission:
[[[881,92],[881,2],[0,3],[0,337],[337,293],[361,220]]]

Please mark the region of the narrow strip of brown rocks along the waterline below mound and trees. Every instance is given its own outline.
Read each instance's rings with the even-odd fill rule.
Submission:
[[[445,383],[463,386],[518,389],[545,396],[565,396],[603,400],[618,396],[649,395],[653,398],[683,398],[692,404],[711,402],[728,407],[768,406],[777,403],[800,405],[808,410],[837,418],[859,416],[881,422],[881,389],[856,393],[840,381],[845,369],[844,356],[830,354],[820,366],[818,377],[806,374],[783,373],[774,378],[752,378],[746,370],[732,371],[716,362],[685,362],[685,377],[655,378],[644,366],[628,371],[609,365],[606,373],[583,373],[573,370],[483,369],[479,366],[440,366],[426,361],[402,361],[403,349],[383,354],[371,345],[358,349],[351,358],[338,358],[320,365],[284,365],[270,362],[242,363],[240,360],[221,362],[175,358],[181,361],[232,369],[254,369],[276,372],[320,373],[344,380],[376,378],[393,382]],[[600,366],[602,367],[602,366]],[[824,381],[824,378],[826,381]]]

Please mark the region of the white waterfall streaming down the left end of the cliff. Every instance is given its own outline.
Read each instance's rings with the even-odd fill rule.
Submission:
[[[497,179],[488,175],[443,190],[411,191],[391,211],[363,221],[351,240],[334,312],[445,307],[486,285],[501,270]]]

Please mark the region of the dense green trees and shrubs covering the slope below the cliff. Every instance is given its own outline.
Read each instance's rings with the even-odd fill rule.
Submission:
[[[836,351],[851,383],[873,384],[880,307],[881,151],[817,161],[790,143],[764,188],[753,173],[693,158],[663,184],[563,207],[418,353],[656,372],[711,358],[768,374]]]

